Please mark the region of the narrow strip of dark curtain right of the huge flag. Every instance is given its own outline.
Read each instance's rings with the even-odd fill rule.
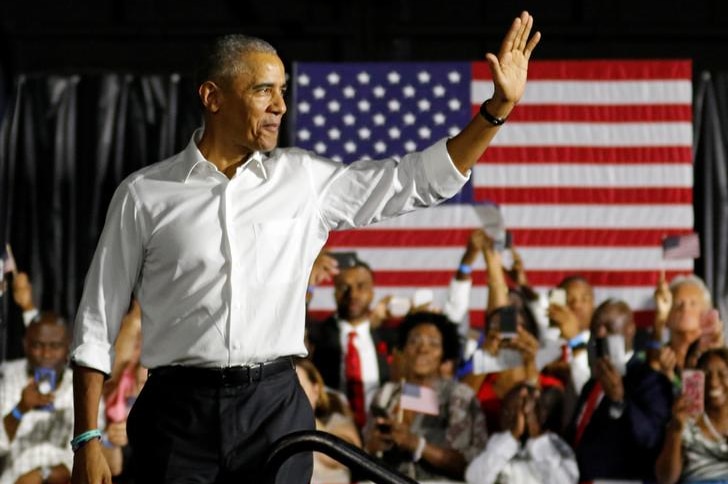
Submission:
[[[696,272],[728,322],[728,73],[703,73],[695,97]]]

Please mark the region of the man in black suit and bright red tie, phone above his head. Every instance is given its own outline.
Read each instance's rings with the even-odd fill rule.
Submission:
[[[311,358],[324,383],[346,394],[361,429],[374,392],[389,380],[389,348],[394,335],[373,327],[374,274],[356,260],[334,278],[336,313],[308,327]]]

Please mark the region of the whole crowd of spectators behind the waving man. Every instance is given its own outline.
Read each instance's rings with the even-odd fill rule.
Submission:
[[[565,304],[544,308],[518,252],[506,250],[511,268],[474,230],[442,308],[411,306],[404,317],[391,314],[390,296],[374,301],[376,274],[366,262],[342,266],[322,251],[309,282],[315,290],[332,281],[336,310],[309,318],[309,354],[295,362],[316,429],[423,482],[728,482],[728,348],[704,283],[659,277],[655,323],[635,347],[627,303],[595,301],[589,281],[574,274],[559,284]],[[476,329],[463,308],[481,256],[488,298]],[[0,483],[68,482],[67,325],[34,307],[26,274],[15,275],[12,289],[27,325],[26,357],[2,365]],[[142,311],[130,302],[99,412],[103,456],[119,484],[133,482],[126,419],[147,376]],[[683,382],[696,372],[704,385],[698,411]],[[413,389],[431,401],[406,403]],[[312,482],[357,480],[315,454]]]

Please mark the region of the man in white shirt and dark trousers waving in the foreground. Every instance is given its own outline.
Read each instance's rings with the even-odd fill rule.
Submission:
[[[532,25],[524,12],[486,56],[494,95],[458,135],[349,166],[276,149],[282,61],[260,39],[216,42],[198,89],[204,131],[129,176],[109,206],[75,325],[73,482],[110,482],[96,414],[132,292],[151,369],[127,426],[135,482],[261,482],[271,443],[314,428],[290,355],[306,353],[306,280],[328,232],[458,192],[523,95],[540,39]],[[277,478],[310,475],[310,455],[299,454]]]

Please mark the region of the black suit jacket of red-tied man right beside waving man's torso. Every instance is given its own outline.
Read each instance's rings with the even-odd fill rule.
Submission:
[[[389,380],[388,356],[391,353],[391,338],[380,328],[371,330],[374,350],[377,354],[380,385]],[[321,322],[310,322],[308,325],[308,341],[311,345],[312,361],[321,373],[326,386],[334,389],[343,388],[341,380],[341,364],[344,349],[341,347],[341,332],[336,316]]]

